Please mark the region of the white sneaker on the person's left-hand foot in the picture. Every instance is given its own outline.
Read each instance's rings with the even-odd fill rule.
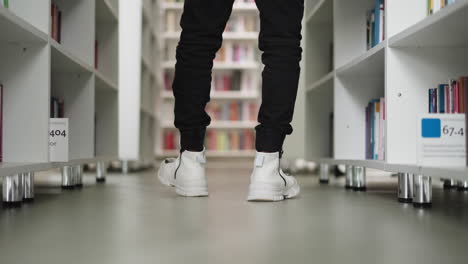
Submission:
[[[158,170],[162,184],[175,187],[182,196],[208,196],[205,152],[183,151],[177,159],[165,159]]]

